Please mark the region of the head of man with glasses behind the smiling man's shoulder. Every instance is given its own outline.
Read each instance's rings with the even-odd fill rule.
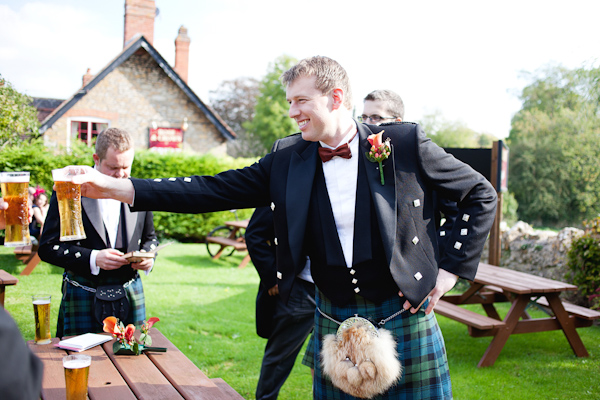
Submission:
[[[384,122],[402,122],[404,103],[391,90],[374,90],[364,99],[363,113],[358,117],[365,124],[379,125]]]

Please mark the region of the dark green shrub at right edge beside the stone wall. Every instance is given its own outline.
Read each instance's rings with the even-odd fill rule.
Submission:
[[[587,306],[600,310],[600,216],[584,225],[585,234],[573,241],[567,254],[567,277],[586,297]]]

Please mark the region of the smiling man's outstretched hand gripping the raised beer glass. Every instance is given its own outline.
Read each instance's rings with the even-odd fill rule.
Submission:
[[[77,171],[72,182],[81,185],[81,195],[92,199],[115,199],[122,203],[133,203],[135,190],[129,179],[117,179],[104,175],[87,166],[65,167]]]

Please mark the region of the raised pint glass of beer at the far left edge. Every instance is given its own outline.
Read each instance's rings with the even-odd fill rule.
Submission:
[[[6,231],[4,245],[28,246],[29,238],[29,172],[0,173],[2,197],[8,203],[4,211]]]

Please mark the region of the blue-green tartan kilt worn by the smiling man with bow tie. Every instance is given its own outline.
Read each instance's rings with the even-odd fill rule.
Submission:
[[[375,304],[356,295],[350,304],[337,307],[317,290],[316,302],[321,311],[336,321],[342,322],[358,314],[359,317],[366,318],[378,326],[379,321],[402,309],[404,299],[394,296],[381,304]],[[434,313],[425,315],[425,308],[426,305],[416,314],[406,311],[386,322],[384,328],[391,331],[397,343],[402,363],[402,379],[373,399],[452,399],[444,339]],[[303,360],[303,364],[315,369],[314,399],[355,399],[333,386],[331,380],[322,372],[320,352],[323,336],[335,334],[338,327],[337,323],[323,317],[318,310],[315,312],[315,330],[309,342],[312,349],[307,349],[305,354],[305,359],[309,352],[312,354],[312,366],[310,362]]]

